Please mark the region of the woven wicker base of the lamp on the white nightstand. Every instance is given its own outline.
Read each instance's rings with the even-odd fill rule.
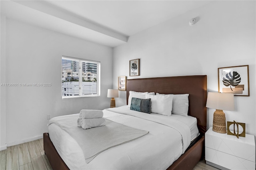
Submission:
[[[226,133],[226,117],[222,110],[216,109],[213,114],[212,130],[218,133]]]

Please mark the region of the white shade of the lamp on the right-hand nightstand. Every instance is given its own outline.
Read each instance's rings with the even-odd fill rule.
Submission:
[[[206,107],[218,110],[234,110],[233,93],[208,92]]]

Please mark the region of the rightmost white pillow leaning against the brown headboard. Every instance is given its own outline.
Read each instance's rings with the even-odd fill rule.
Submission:
[[[156,93],[156,95],[164,95]],[[173,95],[172,99],[172,114],[188,116],[188,95]]]

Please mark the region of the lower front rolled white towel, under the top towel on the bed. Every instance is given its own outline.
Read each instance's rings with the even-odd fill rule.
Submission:
[[[81,126],[83,129],[101,127],[105,125],[105,122],[105,118],[81,119]]]

